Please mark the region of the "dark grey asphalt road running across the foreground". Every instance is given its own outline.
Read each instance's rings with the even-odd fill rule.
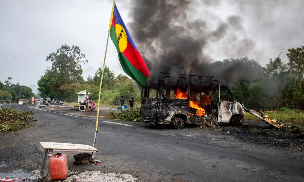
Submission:
[[[8,106],[12,104],[1,107]],[[0,166],[0,171],[39,169],[43,156],[39,141],[93,143],[94,118],[15,106],[33,110],[36,126],[0,133],[0,163],[12,163],[10,167]],[[139,122],[120,122],[133,125],[123,126],[103,121],[98,123],[99,152],[95,155],[103,163],[75,166],[73,155],[77,153],[66,153],[69,170],[127,173],[145,182],[304,180],[303,151],[295,147],[244,142],[225,130],[153,129]]]

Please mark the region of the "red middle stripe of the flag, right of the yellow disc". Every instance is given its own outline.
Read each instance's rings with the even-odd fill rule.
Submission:
[[[136,69],[143,73],[144,76],[147,76],[147,78],[149,78],[150,72],[147,68],[146,63],[143,61],[140,53],[132,46],[129,41],[126,50],[124,50],[122,53]]]

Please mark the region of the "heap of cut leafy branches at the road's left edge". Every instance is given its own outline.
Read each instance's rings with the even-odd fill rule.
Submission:
[[[32,111],[20,112],[16,108],[0,110],[0,132],[17,131],[31,126],[34,119]]]

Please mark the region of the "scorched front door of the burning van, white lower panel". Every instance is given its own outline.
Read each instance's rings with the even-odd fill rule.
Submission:
[[[228,88],[219,85],[219,117],[217,122],[229,123],[232,114],[230,102],[233,102],[233,100],[229,100],[229,98],[231,99],[233,97],[231,96],[231,93],[228,92]]]

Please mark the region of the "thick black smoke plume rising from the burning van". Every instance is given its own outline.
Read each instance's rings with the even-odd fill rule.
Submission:
[[[205,21],[208,17],[192,17],[198,6],[196,1],[131,0],[131,4],[133,39],[151,73],[148,86],[157,86],[160,72],[170,73],[171,78],[165,82],[167,86],[182,84],[178,82],[178,74],[214,76],[222,84],[233,83],[230,80],[233,71],[212,70],[210,63],[214,60],[206,53],[206,46],[231,35],[230,43],[234,43],[233,50],[237,53],[254,47],[250,39],[240,40],[231,34],[233,30],[243,28],[242,18],[237,15],[211,29]],[[204,1],[202,5],[216,6],[218,1]],[[203,7],[200,9],[204,10]],[[206,79],[193,78],[192,83],[202,83]]]

